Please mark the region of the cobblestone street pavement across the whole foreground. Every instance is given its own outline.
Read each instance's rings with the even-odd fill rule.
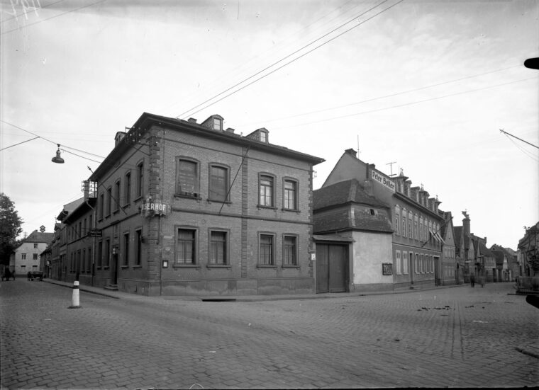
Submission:
[[[263,302],[0,283],[2,389],[539,385],[539,310],[512,285]]]

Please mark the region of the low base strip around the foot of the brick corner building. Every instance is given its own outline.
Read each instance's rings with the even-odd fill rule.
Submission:
[[[148,296],[233,297],[314,294],[312,278],[242,280],[118,280],[118,291]]]

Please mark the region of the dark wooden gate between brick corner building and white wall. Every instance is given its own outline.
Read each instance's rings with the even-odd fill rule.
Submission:
[[[316,244],[316,292],[345,292],[348,246]]]

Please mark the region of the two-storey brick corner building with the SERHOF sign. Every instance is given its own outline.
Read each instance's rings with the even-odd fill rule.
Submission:
[[[235,134],[219,115],[143,113],[89,178],[95,204],[62,219],[67,280],[145,295],[314,292],[312,173],[323,159],[269,137]]]

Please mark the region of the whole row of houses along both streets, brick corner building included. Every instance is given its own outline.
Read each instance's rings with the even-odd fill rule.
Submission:
[[[271,144],[265,128],[224,129],[220,115],[198,123],[143,113],[116,134],[84,197],[58,214],[47,275],[135,294],[240,295],[518,274],[509,248],[488,249],[467,212],[454,226],[402,170],[387,176],[348,149],[313,191],[323,161]]]

